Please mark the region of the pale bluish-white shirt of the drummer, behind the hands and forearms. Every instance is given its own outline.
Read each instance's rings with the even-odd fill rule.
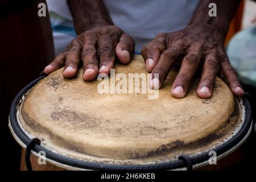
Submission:
[[[134,38],[135,52],[140,53],[142,46],[150,42],[156,34],[183,29],[191,19],[199,1],[104,0],[104,3],[114,24]],[[67,1],[47,0],[47,5],[49,11],[72,21]],[[60,40],[63,42],[63,39]],[[58,46],[56,42],[55,46]]]

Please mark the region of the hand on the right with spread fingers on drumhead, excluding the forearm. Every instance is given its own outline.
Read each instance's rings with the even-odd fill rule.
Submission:
[[[175,61],[182,60],[180,71],[172,85],[171,93],[183,98],[199,67],[202,68],[197,95],[212,96],[217,73],[220,73],[236,96],[243,95],[237,73],[231,67],[224,48],[225,36],[217,28],[187,27],[184,30],[157,35],[142,48],[146,69],[152,73],[151,88],[158,89],[171,71]],[[154,78],[159,73],[159,79]],[[154,86],[153,86],[154,85]]]

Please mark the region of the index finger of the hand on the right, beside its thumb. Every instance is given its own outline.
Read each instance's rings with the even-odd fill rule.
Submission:
[[[162,86],[177,56],[177,51],[174,49],[166,49],[166,51],[160,55],[158,63],[152,70],[151,79],[148,82],[151,89],[159,89]]]

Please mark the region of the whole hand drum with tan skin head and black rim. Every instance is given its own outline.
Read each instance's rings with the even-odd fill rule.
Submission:
[[[196,169],[220,162],[251,131],[246,98],[236,98],[216,78],[213,96],[171,96],[174,68],[159,90],[147,86],[142,56],[116,64],[110,77],[66,79],[63,68],[18,93],[9,126],[31,169]],[[25,161],[22,161],[24,165]],[[37,167],[36,167],[37,166]],[[39,166],[39,167],[38,167]],[[48,166],[48,167],[47,167]],[[51,167],[49,167],[51,166]],[[24,168],[24,167],[23,167]]]

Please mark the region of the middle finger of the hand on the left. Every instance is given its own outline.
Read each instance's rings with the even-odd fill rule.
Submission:
[[[86,37],[82,48],[81,59],[84,73],[82,78],[85,81],[94,80],[98,75],[98,55],[95,47],[96,39]]]

